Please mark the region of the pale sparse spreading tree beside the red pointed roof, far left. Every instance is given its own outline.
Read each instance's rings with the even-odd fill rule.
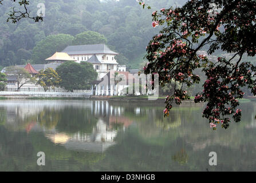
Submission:
[[[17,77],[17,90],[21,89],[26,83],[35,83],[36,79],[24,68],[18,66],[6,67],[6,73],[15,75]]]

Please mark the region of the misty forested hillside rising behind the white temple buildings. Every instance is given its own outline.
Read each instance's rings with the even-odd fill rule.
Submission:
[[[0,5],[1,67],[27,61],[42,63],[55,51],[74,44],[76,35],[84,31],[104,35],[107,45],[120,53],[121,63],[137,67],[149,39],[159,31],[151,26],[152,11],[176,4],[171,0],[148,0],[152,9],[143,10],[136,0],[34,0],[28,6],[32,15],[37,14],[41,2],[46,15],[38,23],[31,19],[6,22],[10,7],[19,5],[7,0]],[[182,5],[186,0],[176,2]]]

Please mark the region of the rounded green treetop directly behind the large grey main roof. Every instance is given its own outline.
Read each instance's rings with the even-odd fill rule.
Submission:
[[[94,31],[85,31],[74,37],[73,45],[93,45],[107,43],[107,38]]]

